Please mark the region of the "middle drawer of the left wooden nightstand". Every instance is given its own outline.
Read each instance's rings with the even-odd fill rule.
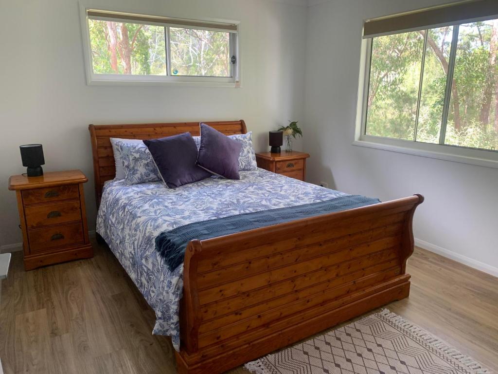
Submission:
[[[80,200],[26,206],[24,215],[28,228],[81,221]]]

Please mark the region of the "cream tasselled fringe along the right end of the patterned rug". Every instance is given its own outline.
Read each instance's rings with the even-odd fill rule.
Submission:
[[[403,317],[398,316],[395,313],[391,313],[391,311],[389,311],[388,309],[382,309],[380,312],[378,312],[378,314],[388,319],[395,325],[409,330],[414,335],[425,340],[427,343],[431,344],[432,346],[444,352],[446,355],[450,356],[453,360],[458,361],[462,365],[465,365],[467,368],[475,371],[476,374],[492,374],[489,369],[484,368],[480,363],[474,361],[474,359],[472,359],[471,357],[462,354],[460,351],[450,346],[445,341],[436,338],[434,335],[421,329],[412,322],[405,320]]]

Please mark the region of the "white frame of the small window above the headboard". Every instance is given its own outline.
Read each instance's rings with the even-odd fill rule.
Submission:
[[[93,71],[93,60],[92,60],[92,49],[90,42],[90,27],[89,27],[89,16],[87,11],[90,9],[95,9],[94,7],[85,6],[80,3],[80,21],[82,27],[83,35],[83,52],[85,58],[85,72],[87,85],[89,86],[100,86],[100,85],[165,85],[165,86],[181,86],[181,87],[241,87],[241,58],[240,58],[240,21],[238,20],[228,20],[228,19],[214,19],[214,18],[202,18],[196,19],[196,21],[201,22],[216,22],[216,23],[227,23],[237,25],[237,32],[230,32],[230,49],[231,56],[236,57],[235,64],[231,64],[231,77],[212,77],[212,76],[187,76],[187,75],[171,75],[171,56],[170,56],[170,46],[169,46],[169,24],[161,22],[140,22],[133,20],[120,20],[117,16],[116,20],[120,22],[128,23],[144,23],[152,24],[165,27],[165,47],[166,47],[166,68],[167,75],[132,75],[132,74],[98,74]],[[150,14],[142,14],[136,12],[127,12],[124,9],[99,9],[109,12],[121,12],[121,13],[134,13],[137,15],[150,16]],[[158,15],[155,15],[158,16]],[[168,16],[169,17],[169,16]],[[170,17],[177,19],[186,19],[183,17]],[[93,19],[95,19],[93,17]],[[180,27],[180,26],[178,26]],[[201,28],[200,28],[201,29]]]

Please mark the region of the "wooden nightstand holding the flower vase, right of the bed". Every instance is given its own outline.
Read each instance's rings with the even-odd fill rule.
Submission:
[[[300,181],[306,179],[306,159],[310,157],[302,152],[256,153],[257,166],[270,172],[281,174]]]

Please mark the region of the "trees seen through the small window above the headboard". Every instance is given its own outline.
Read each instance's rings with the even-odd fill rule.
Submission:
[[[90,19],[89,29],[94,73],[167,74],[165,27]],[[230,33],[176,27],[169,33],[172,75],[231,76]]]

